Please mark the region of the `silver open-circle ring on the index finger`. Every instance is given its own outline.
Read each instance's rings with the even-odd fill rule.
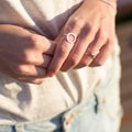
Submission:
[[[75,33],[67,33],[65,35],[66,35],[66,41],[69,44],[74,44],[76,42],[76,40],[77,40],[77,35]]]

